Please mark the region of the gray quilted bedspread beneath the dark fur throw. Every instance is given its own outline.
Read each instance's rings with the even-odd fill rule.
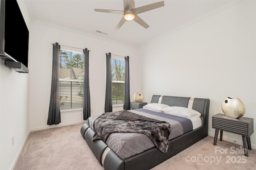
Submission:
[[[185,127],[186,131],[189,131],[189,128],[190,130],[193,129],[190,119],[184,118],[182,120],[174,120],[170,117],[162,117],[163,115],[159,115],[159,112],[154,113],[154,111],[148,111],[146,109],[135,109],[129,111],[152,119],[170,123],[171,132],[168,140],[184,134],[184,127],[182,124],[187,126]],[[93,122],[98,116],[100,115],[94,115],[88,118],[88,125],[92,130],[94,130]],[[180,117],[176,117],[180,119]],[[128,158],[155,146],[147,135],[141,133],[112,133],[106,140],[106,144],[122,159]]]

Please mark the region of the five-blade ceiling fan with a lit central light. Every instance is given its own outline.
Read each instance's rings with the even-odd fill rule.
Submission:
[[[154,9],[160,8],[162,6],[164,6],[164,1],[160,1],[160,2],[153,3],[153,4],[135,8],[134,0],[124,0],[124,10],[123,11],[102,10],[102,9],[94,9],[94,11],[124,15],[124,17],[120,20],[120,22],[116,26],[116,28],[115,28],[116,30],[118,30],[125,23],[125,21],[130,21],[130,20],[134,20],[135,22],[140,24],[142,27],[148,28],[149,25],[145,21],[143,21],[137,14],[141,14],[142,12],[146,12],[149,10],[154,10]]]

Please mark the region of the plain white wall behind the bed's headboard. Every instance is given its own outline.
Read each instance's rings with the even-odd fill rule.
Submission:
[[[209,98],[214,136],[212,115],[223,113],[226,97],[240,98],[244,117],[254,118],[256,149],[255,10],[255,1],[241,2],[142,47],[145,101],[153,94]],[[242,145],[239,135],[224,132],[223,139]]]

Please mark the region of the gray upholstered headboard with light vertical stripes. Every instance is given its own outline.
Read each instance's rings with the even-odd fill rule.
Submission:
[[[161,95],[153,95],[151,103],[158,103]],[[169,106],[188,107],[190,97],[162,96],[161,104]],[[194,98],[192,109],[201,113],[202,122],[206,125],[206,133],[208,135],[208,115],[210,100],[204,98]]]

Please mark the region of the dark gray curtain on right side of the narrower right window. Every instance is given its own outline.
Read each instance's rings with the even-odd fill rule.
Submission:
[[[124,58],[124,109],[131,109],[129,56]]]

